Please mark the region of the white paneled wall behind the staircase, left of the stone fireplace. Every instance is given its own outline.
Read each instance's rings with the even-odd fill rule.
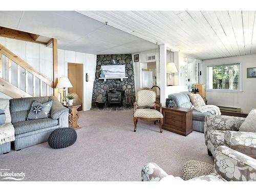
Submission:
[[[25,60],[29,65],[37,69],[42,74],[53,80],[52,48],[32,42],[0,37],[0,44]],[[58,49],[58,77],[68,76],[68,62],[83,64],[83,103],[84,110],[91,108],[91,97],[96,68],[96,57],[92,54],[78,53],[74,51]],[[88,72],[87,72],[88,70]],[[90,73],[89,82],[86,82],[86,73]],[[12,84],[16,86],[16,64],[12,63]],[[15,74],[15,75],[14,75]],[[8,79],[8,60],[3,57],[3,78]],[[32,75],[29,74],[29,94],[32,95]],[[43,84],[43,92],[46,95],[46,84]],[[20,89],[25,90],[25,71],[20,69]],[[36,96],[39,96],[39,79],[36,78]],[[50,94],[53,90],[50,89]],[[0,97],[10,98],[0,92]],[[60,97],[60,96],[58,96]],[[89,100],[90,101],[89,101]]]

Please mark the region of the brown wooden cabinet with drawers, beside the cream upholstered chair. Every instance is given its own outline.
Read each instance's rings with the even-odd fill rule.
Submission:
[[[193,109],[162,106],[162,129],[187,136],[193,131],[192,112]]]

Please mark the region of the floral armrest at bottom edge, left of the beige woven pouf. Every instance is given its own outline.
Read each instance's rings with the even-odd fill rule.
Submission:
[[[147,163],[141,170],[141,181],[160,181],[168,176],[156,163]]]

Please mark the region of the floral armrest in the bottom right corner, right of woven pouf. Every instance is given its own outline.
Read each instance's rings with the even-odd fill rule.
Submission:
[[[256,159],[227,146],[217,147],[214,169],[227,181],[256,181]]]

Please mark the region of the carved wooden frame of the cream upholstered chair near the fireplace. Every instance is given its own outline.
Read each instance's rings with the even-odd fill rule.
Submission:
[[[142,91],[142,90],[148,90],[148,91],[153,91],[155,93],[155,91],[153,89],[150,89],[150,88],[141,88],[141,89],[138,89],[136,91],[136,100],[133,104],[133,113],[138,109],[138,105],[137,105],[137,93],[139,91]],[[155,104],[153,106],[148,106],[150,108],[153,108],[155,110],[157,110],[157,107],[159,108],[159,112],[162,113],[162,104],[160,102],[157,102],[155,101]],[[140,120],[143,120],[143,121],[154,121],[154,124],[156,124],[156,121],[160,121],[160,125],[159,125],[159,128],[160,128],[160,133],[163,132],[162,130],[162,125],[163,125],[163,118],[142,118],[142,117],[133,117],[133,122],[134,122],[134,132],[136,132],[137,130],[137,123],[138,123],[138,119]]]

